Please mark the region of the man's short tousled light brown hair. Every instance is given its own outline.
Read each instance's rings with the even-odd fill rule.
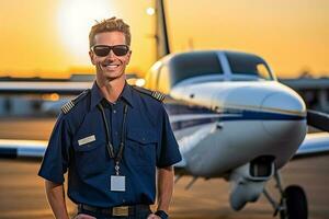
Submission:
[[[97,21],[97,24],[91,27],[89,33],[90,48],[94,45],[94,36],[97,34],[114,31],[122,32],[125,35],[126,45],[131,46],[132,35],[129,25],[126,24],[122,19],[116,19],[113,16],[101,22]]]

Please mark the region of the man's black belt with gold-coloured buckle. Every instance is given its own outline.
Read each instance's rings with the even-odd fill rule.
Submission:
[[[81,212],[83,210],[101,214],[106,216],[133,216],[136,215],[139,210],[148,210],[150,209],[148,205],[134,205],[134,206],[116,206],[109,208],[99,208],[90,205],[79,204],[78,211]]]

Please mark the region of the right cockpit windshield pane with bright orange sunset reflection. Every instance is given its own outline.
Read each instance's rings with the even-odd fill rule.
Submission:
[[[232,74],[243,74],[262,80],[273,80],[266,62],[254,55],[226,53]]]

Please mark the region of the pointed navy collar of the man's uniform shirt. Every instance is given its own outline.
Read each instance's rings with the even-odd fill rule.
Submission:
[[[124,99],[133,107],[134,100],[133,100],[133,95],[132,95],[132,88],[127,82],[125,83],[125,87],[124,87],[122,93],[120,94],[118,100],[121,97]],[[90,110],[95,107],[103,99],[104,99],[104,96],[103,96],[98,83],[94,82],[91,88]]]

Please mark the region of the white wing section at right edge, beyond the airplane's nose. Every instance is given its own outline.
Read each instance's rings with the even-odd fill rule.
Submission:
[[[329,154],[329,134],[307,134],[294,159]]]

